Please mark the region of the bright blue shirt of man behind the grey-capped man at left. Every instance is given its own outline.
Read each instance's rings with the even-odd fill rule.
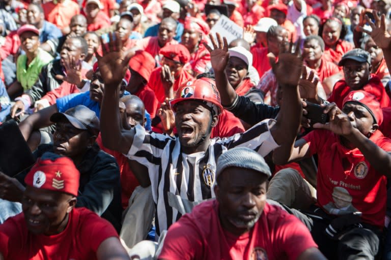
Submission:
[[[7,93],[7,92],[6,92]],[[125,90],[124,95],[129,95],[130,93]],[[84,93],[74,93],[70,95],[63,96],[55,101],[57,109],[59,112],[64,113],[70,108],[76,107],[77,105],[83,105],[95,112],[96,116],[100,118],[100,105],[98,102],[90,99],[90,91]],[[147,122],[145,124],[145,129],[151,131],[151,116],[145,111],[145,117]]]

